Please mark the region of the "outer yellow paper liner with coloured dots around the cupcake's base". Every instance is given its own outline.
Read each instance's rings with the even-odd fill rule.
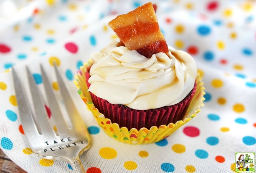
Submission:
[[[175,130],[180,128],[185,123],[192,120],[198,112],[200,112],[200,108],[204,105],[204,87],[202,82],[202,76],[198,73],[196,78],[196,91],[194,97],[192,98],[185,116],[183,120],[177,121],[176,123],[170,123],[168,125],[161,125],[159,127],[153,126],[150,129],[140,128],[139,130],[132,128],[128,130],[126,127],[119,127],[117,123],[112,123],[111,120],[105,118],[103,114],[101,114],[98,109],[94,106],[92,102],[92,98],[90,93],[88,92],[88,87],[86,84],[85,73],[92,65],[93,61],[88,60],[88,62],[84,63],[84,66],[80,67],[80,72],[75,76],[75,85],[78,88],[78,93],[88,108],[93,113],[94,118],[98,122],[99,126],[104,130],[104,132],[123,143],[129,144],[148,144],[158,142],[167,136],[170,136]]]

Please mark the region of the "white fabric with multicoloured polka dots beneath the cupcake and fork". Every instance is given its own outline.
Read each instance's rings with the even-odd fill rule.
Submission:
[[[99,128],[77,94],[74,76],[92,52],[117,38],[107,23],[146,2],[24,1],[22,10],[13,13],[2,12],[0,5],[0,148],[12,161],[27,172],[73,172],[66,162],[33,154],[11,80],[10,67],[15,66],[26,83],[26,65],[42,89],[41,63],[58,94],[53,62],[66,77],[92,138],[81,157],[87,173],[235,172],[235,152],[255,152],[255,1],[153,1],[167,43],[196,61],[205,83],[205,106],[192,121],[153,144],[120,143]],[[47,104],[45,108],[51,119]]]

